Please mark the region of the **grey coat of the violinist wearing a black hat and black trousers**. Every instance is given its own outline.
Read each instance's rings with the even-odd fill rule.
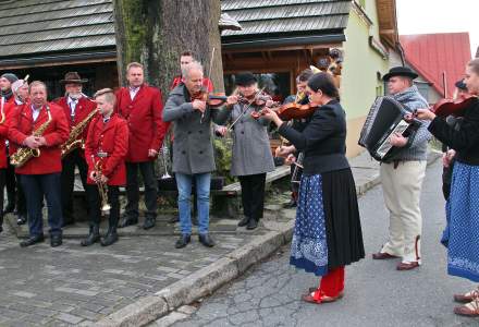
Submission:
[[[218,120],[221,124],[234,122],[247,107],[236,104],[232,109],[222,108]],[[248,175],[265,173],[274,170],[273,156],[271,154],[268,124],[269,121],[251,117],[257,110],[251,106],[233,126],[233,158],[231,160],[231,175]]]

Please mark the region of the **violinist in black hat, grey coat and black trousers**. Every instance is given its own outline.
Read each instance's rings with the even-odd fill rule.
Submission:
[[[238,226],[255,229],[262,218],[266,173],[274,170],[274,161],[268,137],[269,121],[255,119],[254,113],[272,101],[259,96],[257,80],[249,72],[236,74],[235,84],[241,96],[228,98],[219,119],[222,123],[235,122],[230,173],[237,177],[242,185],[244,218]]]

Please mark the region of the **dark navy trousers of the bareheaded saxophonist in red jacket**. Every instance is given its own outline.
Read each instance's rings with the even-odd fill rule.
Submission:
[[[21,174],[20,181],[25,192],[30,237],[44,234],[41,204],[47,198],[50,235],[62,234],[62,205],[60,199],[60,172],[46,174]]]

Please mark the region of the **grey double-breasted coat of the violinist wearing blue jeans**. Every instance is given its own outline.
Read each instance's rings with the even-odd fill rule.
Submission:
[[[193,109],[189,93],[183,84],[171,90],[163,108],[163,121],[173,124],[173,172],[185,174],[205,173],[216,170],[211,141],[211,120],[218,110],[207,107],[201,112]]]

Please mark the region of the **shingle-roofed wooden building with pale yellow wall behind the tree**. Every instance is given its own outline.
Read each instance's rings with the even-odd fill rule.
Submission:
[[[397,44],[395,0],[222,0],[242,31],[223,31],[225,88],[251,71],[278,99],[295,93],[295,77],[330,49],[344,55],[341,95],[347,112],[348,155],[370,105],[384,92],[389,50]],[[112,0],[0,1],[0,72],[47,82],[62,94],[67,71],[89,80],[86,93],[116,86]]]

